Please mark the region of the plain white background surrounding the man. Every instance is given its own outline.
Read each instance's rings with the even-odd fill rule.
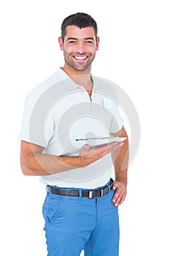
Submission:
[[[20,170],[20,122],[31,89],[63,65],[63,18],[88,12],[100,48],[93,75],[114,81],[138,111],[142,136],[120,206],[120,256],[169,256],[169,1],[7,0],[1,3],[0,255],[45,256],[45,187]],[[135,120],[134,120],[135,121]],[[74,255],[70,255],[74,256]],[[106,255],[107,256],[107,255]]]

